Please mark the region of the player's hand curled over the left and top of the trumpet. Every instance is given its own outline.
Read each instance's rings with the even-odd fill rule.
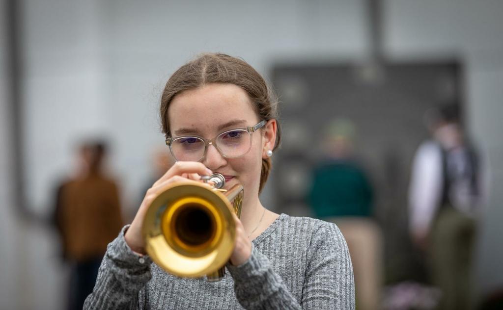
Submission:
[[[170,169],[164,173],[153,185],[147,190],[140,208],[131,223],[131,226],[124,235],[127,245],[139,254],[145,255],[145,240],[141,235],[143,219],[147,212],[148,206],[159,194],[159,192],[167,185],[176,181],[201,181],[201,176],[211,175],[211,170],[206,168],[200,162],[194,161],[177,161]]]

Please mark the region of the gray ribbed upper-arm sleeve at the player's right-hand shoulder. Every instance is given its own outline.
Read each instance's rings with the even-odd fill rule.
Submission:
[[[353,265],[335,224],[322,222],[313,234],[302,289],[303,309],[355,309]]]

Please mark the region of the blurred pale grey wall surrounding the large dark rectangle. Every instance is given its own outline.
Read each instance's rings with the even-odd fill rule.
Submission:
[[[114,151],[111,165],[122,180],[124,201],[139,199],[151,148],[162,145],[157,121],[162,85],[197,53],[241,56],[267,75],[276,60],[359,59],[368,47],[363,0],[22,3],[26,185],[31,207],[39,214],[49,210],[54,181],[71,167],[75,139],[87,134],[109,138]],[[498,161],[503,154],[497,133],[502,122],[497,121],[503,115],[498,102],[503,23],[498,15],[503,2],[388,0],[384,4],[388,55],[404,59],[440,53],[467,60],[470,128],[489,154],[493,184],[500,186],[503,165]],[[0,48],[5,49],[5,34],[0,38]],[[0,87],[5,87],[2,65]],[[0,117],[6,116],[5,102],[1,98]],[[1,143],[10,139],[10,127],[0,121]],[[0,148],[2,168],[9,166],[7,155]],[[20,228],[7,217],[13,206],[12,197],[4,195],[10,189],[10,176],[4,171],[0,170],[0,248],[23,255],[13,265],[16,256],[8,254],[7,264],[0,266],[0,307],[60,308],[65,275],[55,258],[54,236],[41,227]],[[269,201],[267,193],[265,199]],[[501,234],[496,222],[502,216],[497,206],[503,197],[493,193],[489,201],[478,273],[484,289],[503,282],[503,274],[494,272],[503,250],[493,237]],[[16,239],[23,250],[16,252],[12,239],[5,236],[19,231],[25,234]],[[20,280],[21,271],[26,277]],[[32,297],[26,298],[24,292]]]

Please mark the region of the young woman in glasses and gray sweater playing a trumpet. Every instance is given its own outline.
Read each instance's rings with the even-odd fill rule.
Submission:
[[[86,309],[354,309],[353,268],[334,224],[278,215],[259,200],[278,147],[277,101],[243,60],[204,54],[162,93],[162,130],[177,162],[152,187],[130,226],[110,243]],[[253,128],[253,129],[251,129]],[[215,139],[204,147],[203,139]],[[225,139],[236,139],[232,149]],[[187,152],[184,143],[199,143]],[[141,226],[166,184],[219,172],[244,187],[236,241],[219,282],[178,278],[146,255]]]

